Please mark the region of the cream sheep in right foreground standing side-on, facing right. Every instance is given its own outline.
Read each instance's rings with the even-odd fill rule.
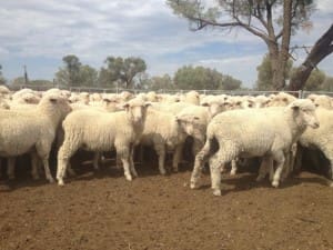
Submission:
[[[195,156],[191,188],[195,188],[199,170],[210,159],[212,189],[221,196],[220,166],[236,157],[270,156],[276,161],[272,186],[278,188],[284,154],[305,131],[319,127],[315,107],[310,100],[295,100],[285,108],[232,110],[215,116],[206,130],[206,142]],[[218,148],[218,150],[216,150]]]

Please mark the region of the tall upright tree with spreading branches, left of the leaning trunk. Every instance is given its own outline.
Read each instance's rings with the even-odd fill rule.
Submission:
[[[285,87],[285,64],[289,60],[291,34],[309,26],[312,0],[219,0],[205,7],[200,0],[167,0],[174,13],[190,21],[191,30],[241,28],[262,39],[271,58],[274,89]],[[283,10],[283,11],[281,11]],[[229,19],[226,19],[229,18]]]

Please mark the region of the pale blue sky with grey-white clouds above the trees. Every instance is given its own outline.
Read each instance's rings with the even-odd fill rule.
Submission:
[[[205,0],[213,2],[214,0]],[[313,28],[300,30],[291,46],[312,46],[333,23],[332,0],[316,0]],[[241,29],[193,32],[165,0],[0,0],[0,64],[6,79],[52,80],[62,58],[75,54],[95,69],[107,57],[140,57],[149,76],[203,66],[253,87],[266,53],[263,41]],[[306,53],[293,53],[294,66]],[[319,69],[333,76],[333,54]]]

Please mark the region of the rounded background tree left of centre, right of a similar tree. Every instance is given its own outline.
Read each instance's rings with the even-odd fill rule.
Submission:
[[[133,88],[134,78],[145,71],[147,64],[141,58],[114,58],[108,57],[105,60],[107,72],[105,76],[109,78],[109,82],[120,80],[124,88]]]

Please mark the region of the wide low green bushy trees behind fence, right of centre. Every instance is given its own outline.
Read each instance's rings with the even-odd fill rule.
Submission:
[[[216,70],[204,67],[184,66],[180,68],[173,78],[174,86],[178,89],[239,89],[242,82],[230,76],[223,76]]]

